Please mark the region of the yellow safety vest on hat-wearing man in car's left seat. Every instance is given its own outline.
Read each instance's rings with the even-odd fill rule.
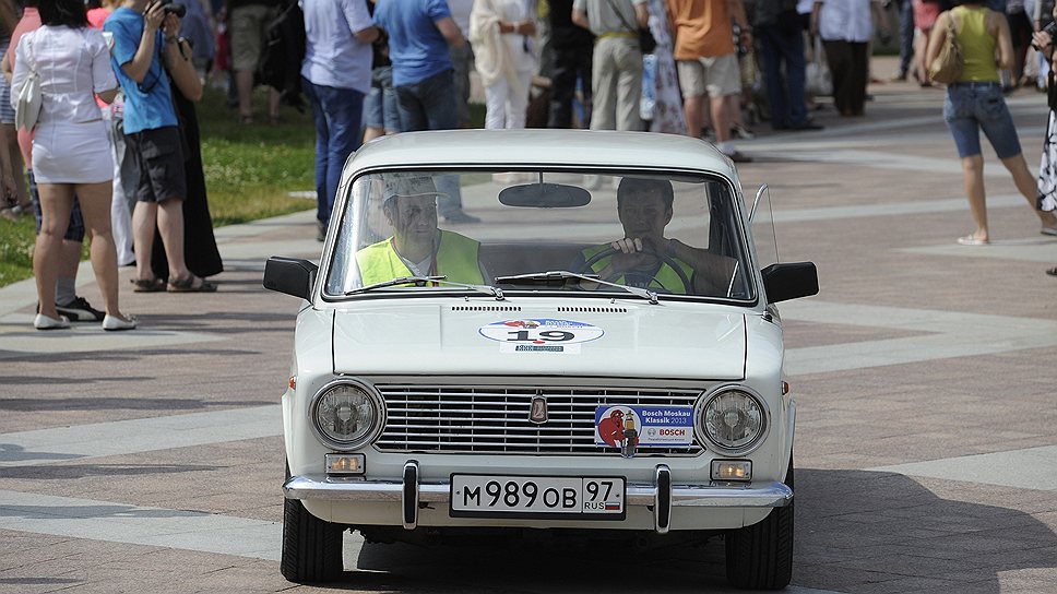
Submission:
[[[454,283],[484,284],[477,253],[480,243],[452,231],[440,231],[440,246],[434,256],[430,275],[447,275]],[[393,238],[367,246],[356,252],[364,286],[383,283],[400,276],[412,276],[393,247]]]

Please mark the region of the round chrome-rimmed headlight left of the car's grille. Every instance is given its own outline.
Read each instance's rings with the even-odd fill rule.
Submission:
[[[383,409],[370,385],[342,379],[326,384],[316,395],[310,414],[323,442],[337,450],[355,450],[381,430]]]

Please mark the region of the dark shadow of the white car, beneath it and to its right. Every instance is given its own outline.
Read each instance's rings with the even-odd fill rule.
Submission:
[[[1014,509],[941,499],[906,476],[797,471],[791,592],[998,594],[1002,572],[1057,567],[1057,535]],[[971,497],[972,484],[966,484]],[[357,542],[360,542],[357,538]],[[723,540],[639,550],[628,542],[415,547],[346,536],[346,571],[330,590],[367,592],[738,592]],[[348,567],[348,560],[346,567]],[[474,585],[471,585],[474,584]]]

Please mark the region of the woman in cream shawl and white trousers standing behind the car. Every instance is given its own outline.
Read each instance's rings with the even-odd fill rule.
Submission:
[[[475,0],[470,12],[474,66],[485,86],[485,128],[524,128],[536,70],[536,24],[526,0]]]

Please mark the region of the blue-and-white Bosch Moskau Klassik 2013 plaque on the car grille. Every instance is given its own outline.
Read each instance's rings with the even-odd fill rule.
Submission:
[[[622,448],[689,445],[693,442],[692,406],[598,406],[595,445]]]

